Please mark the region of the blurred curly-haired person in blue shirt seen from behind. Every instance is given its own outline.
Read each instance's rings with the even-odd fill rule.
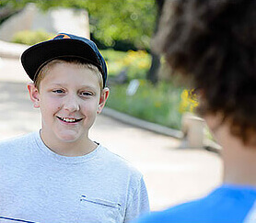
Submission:
[[[191,80],[222,146],[223,184],[137,222],[256,222],[256,1],[177,0],[165,10],[155,48]]]

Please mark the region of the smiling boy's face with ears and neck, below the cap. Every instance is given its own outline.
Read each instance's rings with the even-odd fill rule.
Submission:
[[[56,63],[41,80],[40,91],[29,84],[29,95],[41,108],[41,137],[54,145],[86,140],[109,90],[100,91],[99,77],[90,69]]]

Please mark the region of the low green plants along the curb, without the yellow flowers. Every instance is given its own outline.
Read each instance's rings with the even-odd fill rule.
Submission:
[[[126,95],[126,89],[127,84],[111,86],[107,106],[153,123],[180,129],[181,88],[164,83],[154,86],[140,80],[135,95]]]

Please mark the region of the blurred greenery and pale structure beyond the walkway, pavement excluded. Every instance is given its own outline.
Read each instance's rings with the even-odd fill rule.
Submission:
[[[32,45],[69,32],[95,41],[108,63],[111,108],[180,129],[196,102],[150,50],[164,0],[3,0],[0,39]],[[127,95],[131,80],[139,87]],[[167,84],[168,83],[168,84]],[[136,94],[135,94],[136,92]]]

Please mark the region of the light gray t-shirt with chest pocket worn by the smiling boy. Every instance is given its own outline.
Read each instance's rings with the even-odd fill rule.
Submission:
[[[0,222],[128,222],[149,211],[142,174],[101,145],[49,150],[39,132],[0,143]]]

